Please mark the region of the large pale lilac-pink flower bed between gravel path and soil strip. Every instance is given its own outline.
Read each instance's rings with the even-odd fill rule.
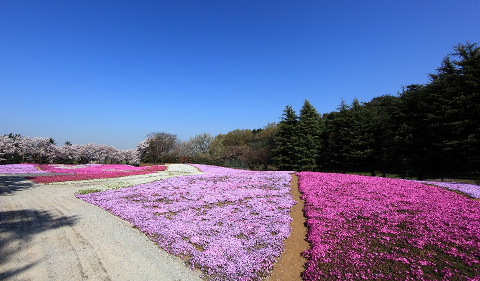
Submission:
[[[260,280],[290,234],[289,172],[208,173],[76,196],[145,232],[208,280]]]

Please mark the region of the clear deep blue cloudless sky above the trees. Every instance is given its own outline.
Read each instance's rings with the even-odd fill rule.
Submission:
[[[480,1],[0,0],[0,134],[133,148],[426,83]]]

